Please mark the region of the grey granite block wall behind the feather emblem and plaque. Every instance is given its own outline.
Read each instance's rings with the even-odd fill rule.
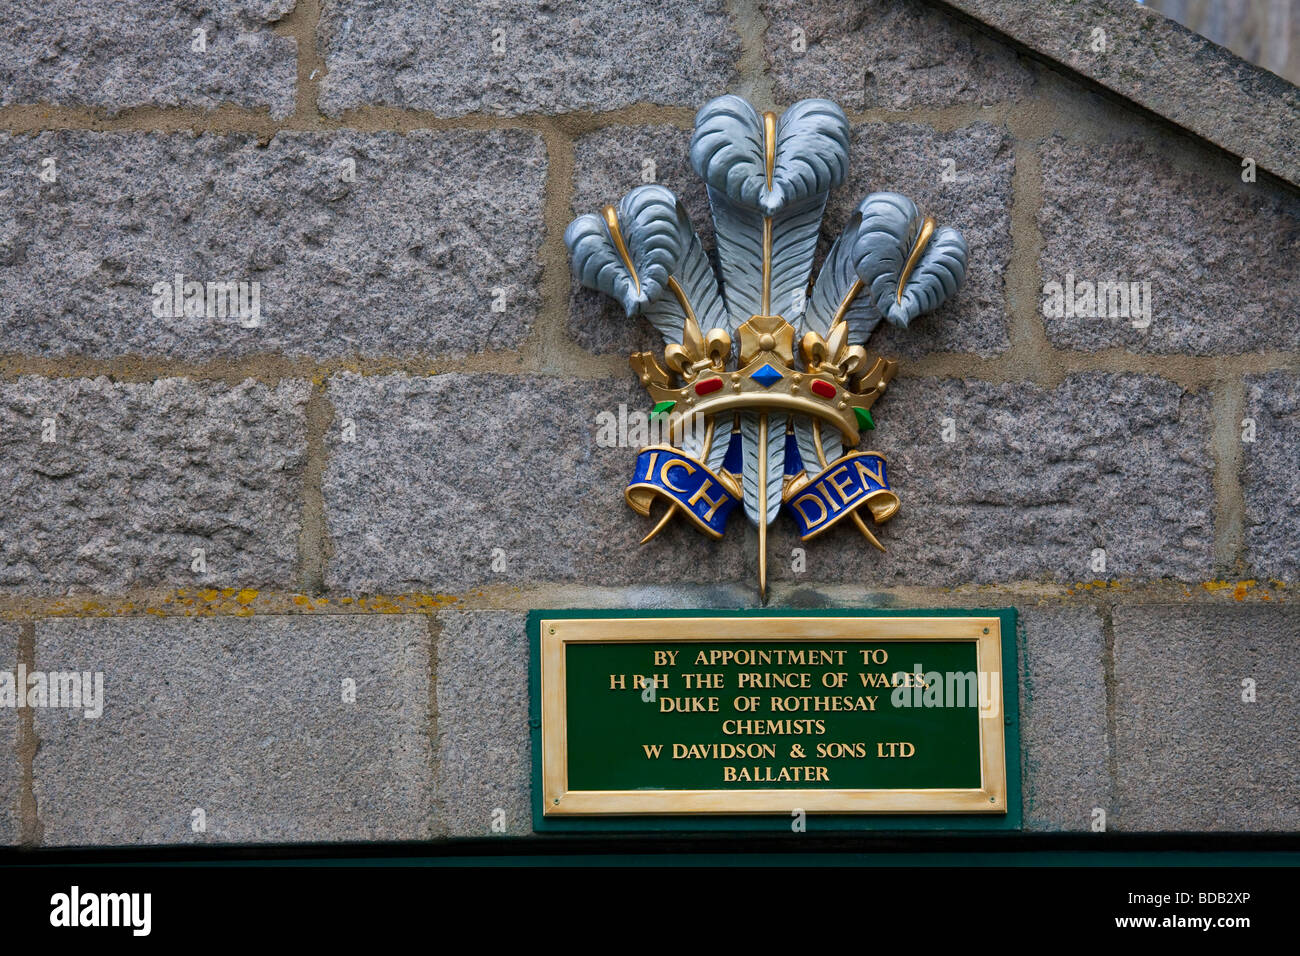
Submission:
[[[104,701],[0,708],[0,843],[525,835],[524,613],[755,604],[740,524],[637,548],[653,338],[563,246],[646,181],[708,243],[725,91],[846,109],[827,239],[894,189],[971,245],[871,343],[887,554],[783,519],[770,602],[1019,609],[1027,829],[1300,829],[1300,193],[1104,95],[1105,7],[1072,69],[924,0],[6,13],[0,671]]]

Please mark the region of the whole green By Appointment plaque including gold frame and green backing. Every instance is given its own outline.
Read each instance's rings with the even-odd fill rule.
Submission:
[[[537,829],[1018,825],[1013,610],[533,611],[529,627]]]

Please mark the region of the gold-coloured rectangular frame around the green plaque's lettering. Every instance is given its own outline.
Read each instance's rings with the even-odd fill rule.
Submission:
[[[667,632],[666,632],[667,631]],[[682,633],[682,632],[686,633]],[[690,632],[694,631],[692,635]],[[707,637],[698,636],[706,633]],[[972,641],[976,670],[996,672],[997,706],[980,706],[979,788],[961,790],[658,790],[568,788],[566,648],[578,643],[703,641]],[[775,814],[798,808],[824,814],[1006,814],[1006,687],[1001,619],[982,617],[673,617],[546,618],[540,620],[542,813]],[[1014,684],[1013,684],[1014,685]]]

